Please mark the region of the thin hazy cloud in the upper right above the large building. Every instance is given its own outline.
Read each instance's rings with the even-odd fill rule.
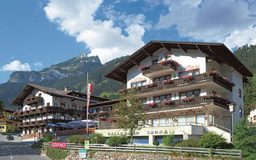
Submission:
[[[157,29],[175,27],[182,37],[226,42],[230,48],[255,41],[253,26],[256,17],[252,15],[255,15],[256,7],[253,2],[166,0],[164,4],[168,6],[168,13],[160,16]],[[246,37],[242,34],[246,34]]]

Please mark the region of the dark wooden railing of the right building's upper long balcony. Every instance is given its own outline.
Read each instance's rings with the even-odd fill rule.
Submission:
[[[188,76],[184,78],[178,78],[173,80],[167,80],[164,82],[152,83],[147,86],[138,86],[135,88],[138,94],[152,92],[154,90],[165,90],[168,88],[174,88],[178,86],[191,85],[201,82],[216,82],[218,85],[226,88],[227,90],[232,91],[233,83],[226,81],[224,78],[218,75],[209,75],[209,74],[198,74],[194,76]]]

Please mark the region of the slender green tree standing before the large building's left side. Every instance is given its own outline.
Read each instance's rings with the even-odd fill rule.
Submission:
[[[147,118],[143,112],[145,106],[135,95],[136,90],[120,93],[121,101],[114,104],[114,117],[117,119],[118,128],[128,130],[131,144],[134,142],[136,130],[141,130],[146,125]]]

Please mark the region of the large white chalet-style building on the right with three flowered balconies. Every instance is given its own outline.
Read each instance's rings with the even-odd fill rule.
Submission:
[[[104,75],[136,88],[150,118],[136,132],[135,143],[153,144],[166,134],[199,138],[215,131],[230,142],[229,104],[234,103],[234,124],[244,115],[243,86],[250,71],[222,43],[151,41]],[[127,134],[114,127],[111,104],[90,106],[106,137]]]

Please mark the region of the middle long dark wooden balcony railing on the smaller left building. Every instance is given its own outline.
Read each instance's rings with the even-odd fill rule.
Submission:
[[[46,107],[37,108],[34,110],[25,110],[23,112],[14,113],[14,115],[16,117],[26,117],[26,116],[33,117],[36,114],[46,114],[49,112],[57,112],[62,114],[75,114],[75,115],[80,115],[85,113],[85,111],[83,110],[73,110],[73,109],[66,109],[66,108],[61,108],[56,106],[46,106]]]

